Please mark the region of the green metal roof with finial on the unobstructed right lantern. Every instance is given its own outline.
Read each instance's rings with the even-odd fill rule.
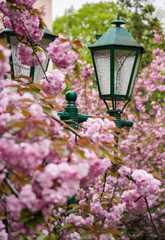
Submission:
[[[97,41],[89,47],[99,48],[106,46],[127,46],[127,47],[140,47],[137,41],[131,36],[131,34],[120,25],[125,24],[124,21],[120,20],[118,15],[117,20],[112,21],[111,24],[116,24],[116,27],[109,28],[103,35],[97,37]]]

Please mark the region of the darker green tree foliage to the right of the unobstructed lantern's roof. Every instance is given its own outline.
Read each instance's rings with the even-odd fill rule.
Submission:
[[[117,4],[121,6],[119,13],[121,18],[127,22],[127,30],[146,51],[141,63],[143,69],[151,63],[153,59],[152,51],[157,47],[154,42],[153,29],[159,31],[164,39],[160,19],[151,1],[118,0]],[[127,11],[123,11],[123,6]],[[163,41],[159,47],[164,49],[165,42]]]

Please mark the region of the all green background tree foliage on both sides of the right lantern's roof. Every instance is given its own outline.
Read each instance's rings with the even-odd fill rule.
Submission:
[[[117,18],[118,13],[121,19],[126,21],[126,29],[146,51],[141,63],[141,69],[143,69],[151,63],[152,50],[157,47],[153,29],[163,36],[160,19],[153,4],[147,0],[119,0],[117,4],[113,2],[84,4],[78,11],[70,8],[66,10],[63,17],[55,19],[53,32],[55,34],[65,32],[70,39],[80,39],[84,46],[81,54],[87,62],[91,63],[87,47],[94,43],[96,34],[104,34],[111,27],[111,21]],[[164,41],[159,47],[164,49]]]

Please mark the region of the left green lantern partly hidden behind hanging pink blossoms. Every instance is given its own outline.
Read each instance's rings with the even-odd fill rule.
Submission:
[[[39,42],[44,49],[46,49],[52,41],[56,39],[55,36],[48,28],[44,27],[44,36]],[[32,77],[33,82],[39,82],[43,77],[43,69],[47,71],[49,65],[49,58],[47,52],[45,52],[46,60],[43,64],[43,69],[41,66],[27,66],[20,63],[17,57],[17,49],[19,42],[23,39],[22,36],[16,35],[12,30],[5,28],[0,32],[0,38],[6,39],[9,47],[12,51],[10,56],[10,65],[11,72],[13,73],[12,77],[17,77],[20,75]]]

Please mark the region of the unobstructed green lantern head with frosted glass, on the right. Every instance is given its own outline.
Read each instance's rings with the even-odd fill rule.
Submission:
[[[95,68],[99,96],[112,101],[113,110],[117,101],[129,102],[132,96],[140,60],[144,51],[118,19],[111,22],[116,27],[97,35],[97,41],[89,47]],[[107,103],[106,103],[106,106]]]

